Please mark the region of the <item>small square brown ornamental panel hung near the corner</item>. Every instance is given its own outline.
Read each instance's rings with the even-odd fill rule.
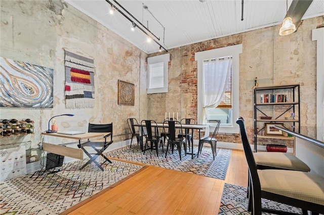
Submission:
[[[118,104],[133,105],[135,102],[134,84],[118,80]]]

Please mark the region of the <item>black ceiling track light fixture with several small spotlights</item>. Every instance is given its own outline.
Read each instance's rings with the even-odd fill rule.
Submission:
[[[105,0],[108,4],[111,5],[111,10],[118,11],[121,15],[123,15],[126,19],[128,19],[135,30],[135,27],[137,27],[139,30],[141,30],[144,34],[146,34],[147,42],[151,42],[152,40],[159,45],[160,49],[163,48],[168,52],[168,49],[165,48],[163,45],[161,45],[157,40],[160,40],[159,37],[157,37],[153,32],[151,32],[147,27],[145,27],[138,19],[136,19],[129,11],[127,11],[123,6],[121,6],[116,0]],[[115,4],[113,5],[112,2]],[[146,6],[147,7],[147,6]],[[147,8],[146,8],[147,10]],[[109,11],[110,13],[110,11]],[[150,12],[151,13],[151,12]],[[155,17],[154,17],[155,18]],[[156,19],[156,18],[155,18]],[[139,24],[136,24],[139,23]],[[132,30],[133,30],[132,28]],[[165,30],[165,29],[164,29]],[[156,39],[154,39],[155,37]]]

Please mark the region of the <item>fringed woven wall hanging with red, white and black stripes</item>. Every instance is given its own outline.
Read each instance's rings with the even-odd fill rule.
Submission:
[[[93,108],[95,104],[94,60],[65,50],[65,106]]]

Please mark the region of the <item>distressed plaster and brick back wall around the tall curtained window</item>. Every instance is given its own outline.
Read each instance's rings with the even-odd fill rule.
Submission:
[[[311,30],[323,22],[323,16],[304,20],[298,31],[288,36],[279,36],[281,25],[277,25],[170,49],[169,92],[148,96],[150,115],[162,117],[165,112],[179,112],[181,118],[197,119],[195,52],[242,44],[243,52],[239,59],[239,115],[246,120],[251,143],[254,141],[252,86],[255,77],[258,77],[259,86],[299,83],[301,125],[316,125],[316,42],[311,39]],[[152,53],[149,57],[158,54]],[[156,106],[160,109],[153,108]],[[218,140],[241,142],[238,134],[220,134]],[[269,141],[273,140],[265,139],[261,144]]]

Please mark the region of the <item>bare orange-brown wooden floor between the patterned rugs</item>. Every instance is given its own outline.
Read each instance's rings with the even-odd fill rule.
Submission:
[[[218,214],[224,183],[247,186],[244,152],[232,150],[225,180],[147,166],[68,214]]]

